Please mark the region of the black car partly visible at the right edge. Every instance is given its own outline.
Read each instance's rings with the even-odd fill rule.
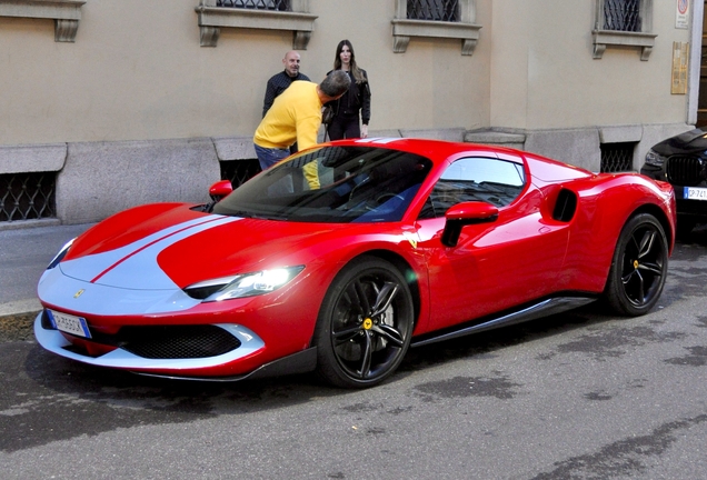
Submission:
[[[677,202],[677,233],[707,222],[707,131],[695,129],[655,144],[640,172],[670,182]]]

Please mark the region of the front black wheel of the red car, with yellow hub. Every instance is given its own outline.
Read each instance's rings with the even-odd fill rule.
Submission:
[[[352,261],[331,283],[319,312],[318,373],[337,387],[380,383],[405,357],[414,324],[405,277],[375,257]]]

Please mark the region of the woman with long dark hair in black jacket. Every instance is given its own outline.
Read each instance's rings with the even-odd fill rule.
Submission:
[[[366,70],[356,64],[356,54],[350,41],[339,42],[333,70],[347,72],[351,78],[351,87],[343,97],[329,103],[333,111],[333,118],[327,126],[329,139],[366,138],[370,120],[370,88]]]

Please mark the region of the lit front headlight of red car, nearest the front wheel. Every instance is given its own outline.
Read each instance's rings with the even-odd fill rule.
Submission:
[[[255,297],[286,286],[303,269],[305,266],[286,267],[233,277],[222,277],[190,284],[185,291],[188,296],[201,299],[205,302]]]

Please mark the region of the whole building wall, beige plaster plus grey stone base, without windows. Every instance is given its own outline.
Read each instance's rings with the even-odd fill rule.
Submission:
[[[57,216],[71,223],[203,201],[221,161],[255,158],[266,81],[292,32],[221,28],[200,47],[199,1],[88,0],[74,42],[54,41],[52,20],[0,17],[0,174],[57,171]],[[394,53],[397,0],[298,1],[317,16],[302,71],[322,79],[349,39],[370,78],[372,136],[501,143],[596,171],[601,143],[636,142],[638,169],[689,128],[687,96],[670,94],[673,42],[690,39],[675,1],[653,0],[648,61],[620,47],[593,58],[595,0],[460,0],[480,26],[472,56],[427,37]]]

